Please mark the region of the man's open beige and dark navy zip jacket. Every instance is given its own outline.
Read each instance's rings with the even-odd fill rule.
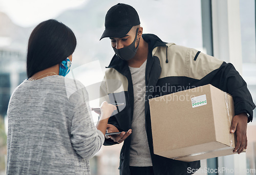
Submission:
[[[145,72],[145,129],[154,174],[189,174],[187,168],[200,168],[200,161],[182,162],[154,155],[148,99],[210,83],[233,96],[235,114],[248,113],[250,115],[248,122],[252,120],[252,110],[255,105],[246,82],[231,63],[223,62],[195,49],[163,42],[153,34],[143,34],[142,37],[148,43],[149,51],[152,51],[152,56],[147,59]],[[165,88],[161,88],[163,86]],[[101,101],[125,103],[114,112],[115,115],[109,119],[109,123],[121,131],[130,129],[134,108],[132,77],[126,61],[116,55],[105,72],[105,81],[101,85],[101,96],[104,96]],[[132,135],[124,141],[120,152],[121,175],[130,174],[131,137]],[[104,145],[116,143],[111,139],[105,139]]]

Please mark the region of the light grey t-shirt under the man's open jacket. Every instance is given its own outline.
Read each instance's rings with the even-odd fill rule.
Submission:
[[[132,141],[130,166],[152,166],[150,148],[145,129],[145,71],[146,61],[140,68],[129,67],[134,91],[134,111],[132,120]],[[131,137],[130,136],[130,137]]]

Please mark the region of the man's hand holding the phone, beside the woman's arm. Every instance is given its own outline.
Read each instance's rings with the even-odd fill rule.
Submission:
[[[108,124],[108,125],[106,126],[106,130],[107,130],[108,133],[119,132],[119,130],[116,128],[116,126],[114,126],[114,125],[112,125],[112,124]],[[124,141],[128,136],[130,136],[130,134],[132,134],[132,129],[129,129],[126,134],[125,134],[125,132],[122,132],[121,134],[117,134],[117,135],[105,136],[105,138],[106,138],[106,139],[111,138],[112,140],[114,140],[114,142],[121,143],[121,142]]]

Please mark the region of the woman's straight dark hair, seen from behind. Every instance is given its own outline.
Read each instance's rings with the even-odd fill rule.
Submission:
[[[27,76],[61,63],[73,54],[76,37],[72,30],[55,19],[43,21],[29,37]]]

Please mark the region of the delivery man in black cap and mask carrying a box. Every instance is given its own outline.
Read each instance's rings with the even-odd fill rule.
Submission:
[[[105,31],[100,38],[109,37],[116,53],[105,72],[101,95],[110,102],[125,103],[108,124],[108,132],[122,133],[104,142],[113,145],[124,141],[120,174],[189,174],[188,167],[200,167],[200,161],[176,161],[153,152],[148,98],[174,93],[180,87],[185,90],[210,83],[233,96],[236,116],[230,132],[237,134],[234,151],[240,154],[247,147],[247,122],[252,120],[255,105],[233,65],[195,49],[163,42],[153,34],[142,35],[142,31],[136,10],[117,4],[106,14]],[[170,134],[166,133],[166,137]]]

